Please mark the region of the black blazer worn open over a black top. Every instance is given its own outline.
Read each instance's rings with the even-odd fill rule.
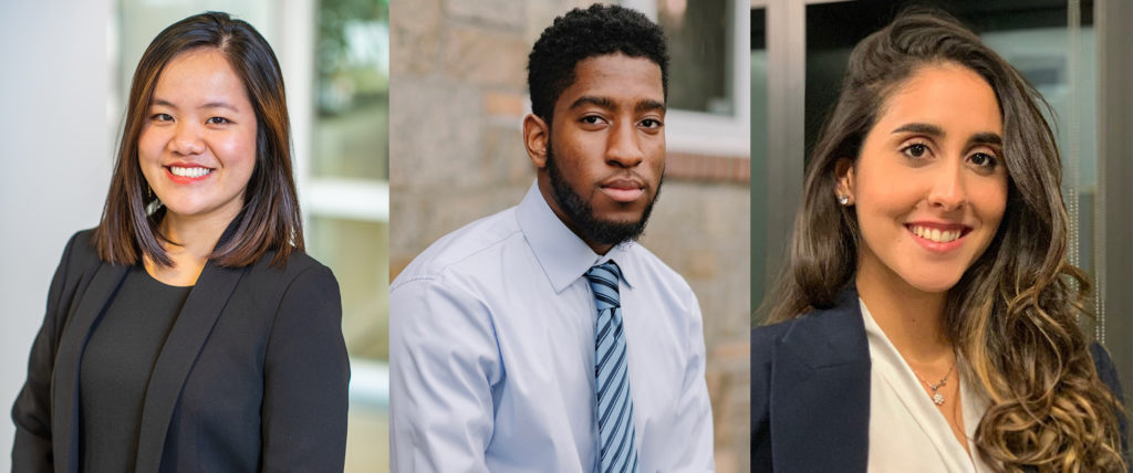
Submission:
[[[51,282],[12,407],[12,471],[78,471],[79,364],[128,269],[101,261],[93,234],[71,238]],[[274,256],[205,265],[146,387],[137,472],[342,471],[350,368],[338,282],[306,253],[283,269],[269,266]]]

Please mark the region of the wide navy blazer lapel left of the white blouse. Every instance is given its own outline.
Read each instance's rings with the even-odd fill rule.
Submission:
[[[864,472],[870,359],[853,289],[833,309],[796,319],[772,353],[775,471]]]

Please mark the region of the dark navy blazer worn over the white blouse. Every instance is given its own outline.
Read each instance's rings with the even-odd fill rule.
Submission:
[[[1109,355],[1097,343],[1090,354],[1119,398]],[[751,330],[751,471],[864,472],[869,384],[869,342],[853,286],[830,309]]]

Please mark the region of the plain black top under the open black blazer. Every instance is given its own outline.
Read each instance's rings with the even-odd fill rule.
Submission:
[[[134,266],[95,324],[79,368],[83,470],[135,470],[150,375],[191,289],[167,285]]]

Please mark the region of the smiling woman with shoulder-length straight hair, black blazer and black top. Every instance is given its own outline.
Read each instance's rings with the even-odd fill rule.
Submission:
[[[220,12],[168,27],[51,283],[12,470],[342,471],[338,283],[303,249],[271,48]]]

